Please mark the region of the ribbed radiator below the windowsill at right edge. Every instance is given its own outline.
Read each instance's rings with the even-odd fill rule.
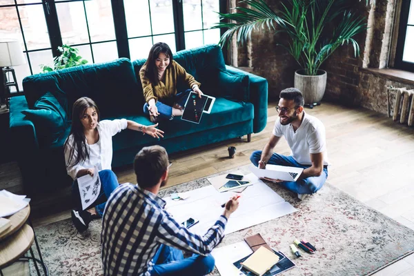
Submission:
[[[393,112],[393,121],[400,119],[401,124],[414,124],[414,90],[403,88],[388,87],[388,117],[391,117],[390,92],[395,91],[395,104]],[[408,116],[407,116],[408,114]]]

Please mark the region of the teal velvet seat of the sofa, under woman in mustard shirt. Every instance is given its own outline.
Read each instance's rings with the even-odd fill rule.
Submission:
[[[172,121],[160,121],[158,128],[164,130],[164,139],[191,135],[194,132],[201,132],[217,128],[219,126],[228,126],[230,124],[242,121],[253,120],[253,104],[244,102],[229,101],[224,98],[217,98],[210,114],[203,114],[200,124],[193,124],[181,120],[179,117]],[[144,115],[121,115],[118,117],[109,117],[105,119],[125,118],[136,121],[146,126],[152,123]],[[124,130],[112,138],[113,150],[122,150],[134,145],[157,144],[157,140],[150,135],[142,135],[141,132],[133,130]],[[201,145],[200,145],[201,146]]]

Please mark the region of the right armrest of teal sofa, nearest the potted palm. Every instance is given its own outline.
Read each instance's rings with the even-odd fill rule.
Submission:
[[[268,82],[265,78],[244,72],[237,68],[227,66],[228,72],[234,75],[248,75],[250,81],[250,102],[255,106],[255,119],[253,119],[253,132],[261,132],[267,124],[268,110]]]

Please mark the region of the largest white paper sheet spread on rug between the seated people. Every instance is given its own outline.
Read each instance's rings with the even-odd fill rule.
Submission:
[[[224,210],[221,204],[233,195],[242,197],[239,199],[239,208],[228,220],[225,234],[262,224],[296,211],[253,173],[246,175],[245,178],[252,181],[253,185],[248,186],[241,194],[232,191],[219,193],[213,186],[206,186],[187,192],[186,195],[190,197],[186,200],[173,201],[170,197],[165,197],[166,210],[179,222],[186,221],[189,217],[198,219],[199,223],[190,229],[199,235],[204,235],[208,228],[215,224]]]

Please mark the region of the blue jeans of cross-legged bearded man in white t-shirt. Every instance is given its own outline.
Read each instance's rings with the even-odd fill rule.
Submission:
[[[260,157],[262,156],[262,150],[255,150],[252,155],[250,155],[250,161],[255,166],[258,166]],[[297,168],[309,168],[309,165],[302,165],[297,163],[295,159],[291,156],[278,155],[273,153],[272,157],[268,160],[267,164],[279,165],[279,166],[290,166]],[[291,190],[294,193],[298,194],[313,194],[317,190],[324,186],[326,179],[328,178],[328,168],[324,167],[322,175],[319,177],[306,177],[303,179],[298,179],[297,181],[282,181],[278,184],[284,188]]]

